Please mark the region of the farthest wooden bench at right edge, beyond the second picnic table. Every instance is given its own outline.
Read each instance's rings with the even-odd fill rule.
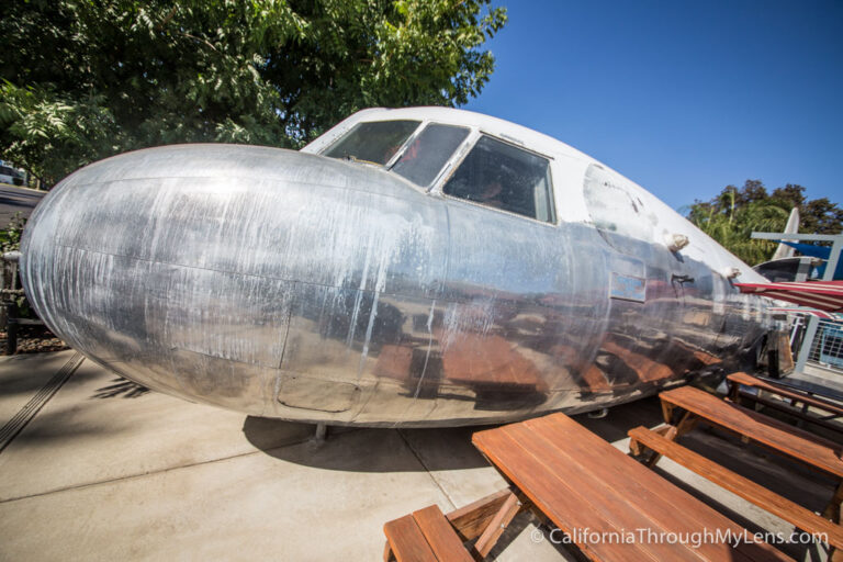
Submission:
[[[744,401],[754,402],[773,409],[783,411],[810,424],[816,424],[833,431],[843,432],[843,426],[828,422],[829,419],[843,416],[842,404],[822,398],[820,396],[814,396],[812,393],[806,392],[805,390],[801,390],[794,384],[785,383],[784,381],[769,381],[766,379],[753,376],[744,372],[732,373],[728,375],[726,380],[729,384],[729,396],[735,404],[740,404]],[[790,401],[790,405],[794,407],[801,403],[802,408],[801,411],[794,411],[793,408],[786,407],[782,403],[777,403],[776,401],[771,401],[752,394],[744,389],[755,389],[778,395]],[[813,407],[825,412],[828,413],[828,416],[824,418],[810,416],[808,415],[808,407]]]

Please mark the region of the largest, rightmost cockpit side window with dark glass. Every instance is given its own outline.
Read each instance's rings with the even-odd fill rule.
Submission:
[[[538,221],[555,221],[547,158],[482,136],[442,191]]]

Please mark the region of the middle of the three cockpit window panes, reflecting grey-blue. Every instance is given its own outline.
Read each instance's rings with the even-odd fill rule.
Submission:
[[[427,187],[467,136],[469,130],[465,127],[431,123],[416,136],[392,171],[423,188]]]

